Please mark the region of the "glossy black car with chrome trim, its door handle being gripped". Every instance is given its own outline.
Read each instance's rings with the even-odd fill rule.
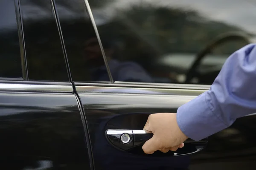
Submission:
[[[254,114],[175,152],[141,148],[149,114],[207,91],[256,40],[255,5],[0,0],[0,170],[255,170]]]

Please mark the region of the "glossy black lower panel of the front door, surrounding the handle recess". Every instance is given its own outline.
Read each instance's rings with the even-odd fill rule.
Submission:
[[[202,92],[194,90],[192,94],[189,89],[183,89],[182,92],[177,89],[176,93],[170,93],[169,89],[161,89],[169,94],[160,92],[157,94],[154,88],[135,89],[136,84],[134,84],[136,93],[127,92],[125,87],[119,87],[119,92],[113,88],[112,93],[111,88],[104,92],[104,87],[98,87],[99,93],[97,93],[96,90],[86,91],[86,86],[84,91],[79,91],[78,94],[87,119],[96,170],[119,168],[124,170],[216,170],[216,168],[253,170],[256,166],[256,145],[252,142],[254,140],[252,132],[256,130],[256,115],[237,119],[231,127],[209,136],[207,147],[198,153],[187,156],[143,155],[141,147],[138,148],[138,152],[125,153],[109,144],[105,138],[105,130],[110,128],[142,130],[147,115],[161,112],[175,113],[180,105],[193,99],[196,93],[199,95]],[[140,90],[143,93],[140,93]],[[130,89],[130,91],[133,90]],[[145,94],[145,91],[148,93]],[[119,119],[119,117],[125,119]],[[181,150],[177,150],[179,151]]]

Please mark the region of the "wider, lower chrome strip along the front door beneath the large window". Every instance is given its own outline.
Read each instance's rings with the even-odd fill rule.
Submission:
[[[77,92],[84,93],[116,93],[116,94],[169,94],[198,96],[206,90],[172,89],[172,88],[134,88],[134,87],[106,87],[106,86],[76,86]]]

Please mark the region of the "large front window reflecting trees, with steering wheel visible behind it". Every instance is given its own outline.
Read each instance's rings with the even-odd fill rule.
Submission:
[[[227,57],[255,40],[250,1],[89,3],[115,81],[211,84]]]

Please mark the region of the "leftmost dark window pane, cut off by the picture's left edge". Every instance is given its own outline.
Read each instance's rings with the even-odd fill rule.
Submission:
[[[0,0],[0,77],[22,79],[14,0]]]

